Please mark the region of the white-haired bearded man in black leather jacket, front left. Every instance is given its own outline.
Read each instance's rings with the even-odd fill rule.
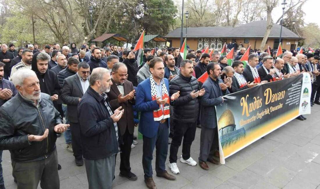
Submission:
[[[36,73],[20,69],[12,76],[19,93],[0,107],[0,150],[9,150],[18,189],[60,188],[57,133],[63,124],[50,95],[41,93]]]

